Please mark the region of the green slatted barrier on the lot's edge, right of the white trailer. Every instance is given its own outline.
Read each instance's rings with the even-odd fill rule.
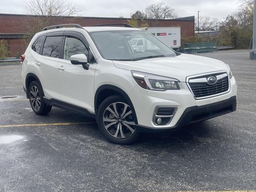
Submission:
[[[216,42],[186,43],[180,50],[182,53],[215,52],[218,50]]]

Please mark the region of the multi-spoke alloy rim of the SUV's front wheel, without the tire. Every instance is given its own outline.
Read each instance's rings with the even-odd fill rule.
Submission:
[[[122,102],[112,103],[105,109],[103,124],[115,138],[128,138],[135,131],[132,110],[128,104]]]

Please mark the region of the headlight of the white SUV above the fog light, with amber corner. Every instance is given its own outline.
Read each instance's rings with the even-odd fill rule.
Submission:
[[[138,85],[144,89],[157,91],[180,89],[178,85],[179,80],[174,78],[168,78],[164,76],[147,74],[137,71],[132,71],[132,76],[136,80]]]

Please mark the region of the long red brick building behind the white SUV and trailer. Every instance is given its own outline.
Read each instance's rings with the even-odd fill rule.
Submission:
[[[126,23],[130,18],[104,18],[104,17],[57,17],[54,24],[76,23],[81,26],[93,26],[98,24]],[[10,57],[19,57],[24,53],[26,46],[22,36],[27,29],[33,26],[38,20],[38,16],[28,16],[21,14],[0,14],[0,39],[8,42]],[[148,24],[154,22],[156,27],[180,26],[182,36],[194,36],[194,16],[170,19],[170,20],[147,20]]]

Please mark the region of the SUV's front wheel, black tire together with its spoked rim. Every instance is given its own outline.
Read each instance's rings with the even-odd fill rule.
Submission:
[[[118,112],[119,118],[116,118],[114,114],[108,110],[109,108],[114,107],[113,104],[116,106],[116,110],[113,109],[112,111]],[[110,118],[110,116],[112,116],[112,118]],[[121,96],[117,96],[117,95],[106,98],[100,104],[100,107],[98,108],[98,113],[96,116],[96,120],[97,120],[97,124],[100,132],[110,142],[115,144],[122,144],[122,145],[132,144],[136,140],[138,140],[138,138],[140,137],[141,133],[138,130],[136,130],[134,127],[135,126],[134,119],[135,119],[134,112],[130,108],[128,102],[126,102],[126,100]],[[113,124],[113,125],[106,128],[109,124]]]

